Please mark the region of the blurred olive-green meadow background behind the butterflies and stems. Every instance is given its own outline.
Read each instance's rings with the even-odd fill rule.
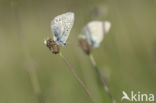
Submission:
[[[91,20],[112,23],[93,55],[117,102],[123,90],[156,94],[155,0],[0,0],[0,103],[37,103],[37,78],[42,103],[91,103],[63,60],[43,44],[52,37],[50,21],[68,11],[75,12],[75,24],[61,50],[97,103],[111,101],[77,40]]]

